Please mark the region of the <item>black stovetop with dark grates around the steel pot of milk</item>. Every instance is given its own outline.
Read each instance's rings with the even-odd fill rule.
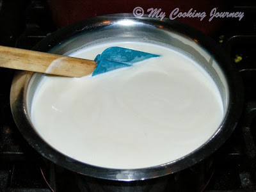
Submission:
[[[242,76],[244,111],[230,139],[212,155],[214,166],[201,191],[256,191],[256,6],[236,1],[232,7],[245,17],[229,21],[212,38]],[[0,26],[0,45],[25,49],[56,30],[45,1],[0,0]],[[12,77],[13,70],[0,68],[0,191],[81,191],[72,179],[76,173],[42,159],[20,135],[10,110]],[[93,189],[83,191],[98,191]]]

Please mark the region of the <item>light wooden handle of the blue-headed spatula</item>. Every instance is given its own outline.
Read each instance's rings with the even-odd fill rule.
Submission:
[[[91,74],[96,65],[92,60],[0,46],[0,67],[82,77]]]

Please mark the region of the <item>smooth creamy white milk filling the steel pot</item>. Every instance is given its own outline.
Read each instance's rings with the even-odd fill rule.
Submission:
[[[211,138],[223,118],[220,92],[195,61],[141,42],[92,45],[70,56],[94,60],[111,46],[160,54],[98,76],[45,76],[32,122],[61,153],[105,168],[168,163]]]

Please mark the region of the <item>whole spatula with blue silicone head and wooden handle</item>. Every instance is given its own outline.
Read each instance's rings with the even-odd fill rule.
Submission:
[[[158,57],[157,54],[123,47],[109,47],[95,60],[84,60],[46,52],[0,46],[0,67],[67,77],[92,76]]]

